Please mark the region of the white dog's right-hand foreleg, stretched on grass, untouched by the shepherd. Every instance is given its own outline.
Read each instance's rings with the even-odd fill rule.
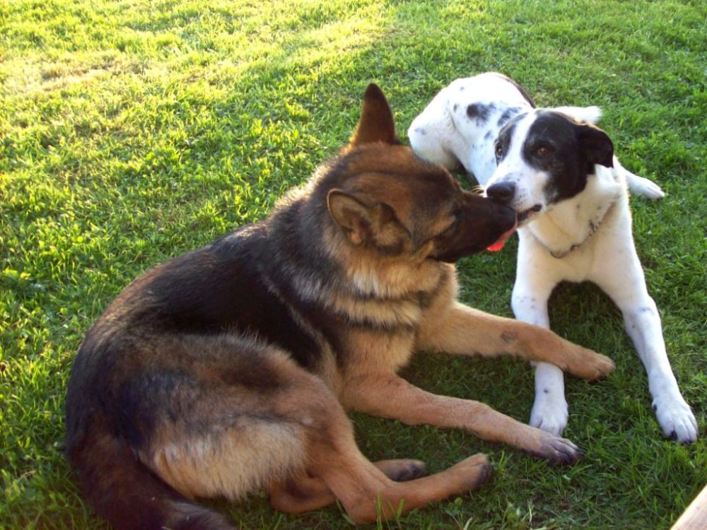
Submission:
[[[638,305],[621,307],[626,331],[636,346],[645,372],[648,389],[653,396],[653,410],[663,433],[678,442],[697,440],[697,421],[690,406],[680,394],[670,368],[660,326],[660,314],[653,298],[647,294]]]

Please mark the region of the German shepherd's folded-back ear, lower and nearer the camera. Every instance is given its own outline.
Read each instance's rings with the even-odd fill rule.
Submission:
[[[397,220],[395,211],[389,204],[378,203],[368,206],[356,196],[341,189],[332,189],[329,192],[327,204],[337,225],[341,227],[349,241],[357,246],[370,242],[378,245],[385,225],[392,220]]]

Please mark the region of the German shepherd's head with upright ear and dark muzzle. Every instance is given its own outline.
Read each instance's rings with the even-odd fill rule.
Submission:
[[[375,84],[366,89],[349,145],[326,169],[312,194],[326,194],[329,213],[358,255],[452,263],[515,229],[513,210],[462,190],[445,168],[400,143]]]

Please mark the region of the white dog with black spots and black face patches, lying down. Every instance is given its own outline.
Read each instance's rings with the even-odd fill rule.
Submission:
[[[510,78],[482,73],[443,88],[408,136],[421,158],[463,165],[489,197],[518,213],[515,316],[547,328],[559,282],[597,283],[624,315],[663,432],[694,442],[697,423],[670,368],[631,232],[627,188],[650,199],[663,193],[621,166],[595,126],[600,115],[598,107],[538,109]],[[560,434],[567,414],[561,370],[538,364],[530,424]]]

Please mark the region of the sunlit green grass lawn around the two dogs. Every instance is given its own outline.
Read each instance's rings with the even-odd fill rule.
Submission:
[[[437,90],[486,70],[541,105],[596,104],[626,167],[667,197],[633,200],[638,252],[671,362],[707,415],[707,4],[655,1],[21,1],[0,5],[0,528],[106,528],[62,457],[66,380],[83,334],[148,266],[262,218],[348,139],[369,81],[404,131]],[[467,181],[467,185],[472,183]],[[462,297],[510,316],[515,243],[460,263]],[[617,360],[568,379],[551,468],[465,432],[354,415],[371,459],[438,471],[475,452],[493,481],[381,528],[667,529],[707,482],[707,442],[663,440],[614,306],[564,285],[562,336]],[[527,420],[514,360],[420,355],[420,387]],[[244,528],[346,528],[337,507],[288,517],[264,495],[216,502]]]

